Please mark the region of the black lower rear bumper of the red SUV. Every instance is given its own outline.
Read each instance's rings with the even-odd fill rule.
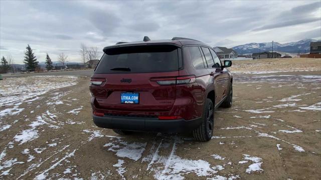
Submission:
[[[154,132],[186,132],[192,131],[201,124],[201,117],[185,120],[159,120],[158,118],[145,117],[119,117],[119,116],[96,116],[93,115],[94,123],[98,127],[110,129],[122,129],[133,131]]]

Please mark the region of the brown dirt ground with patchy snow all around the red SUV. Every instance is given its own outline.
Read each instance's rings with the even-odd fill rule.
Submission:
[[[321,71],[234,74],[233,106],[215,112],[209,142],[96,127],[86,76],[0,83],[1,179],[321,176]]]

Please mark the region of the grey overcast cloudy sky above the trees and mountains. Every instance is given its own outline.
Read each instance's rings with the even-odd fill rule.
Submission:
[[[0,55],[22,63],[30,44],[45,61],[81,61],[80,43],[99,50],[117,41],[189,37],[212,46],[321,37],[321,1],[0,0]]]

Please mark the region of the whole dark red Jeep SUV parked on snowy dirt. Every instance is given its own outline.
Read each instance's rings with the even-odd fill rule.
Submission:
[[[193,131],[211,139],[214,110],[232,105],[230,60],[194,39],[117,42],[103,48],[90,91],[94,123],[116,133]]]

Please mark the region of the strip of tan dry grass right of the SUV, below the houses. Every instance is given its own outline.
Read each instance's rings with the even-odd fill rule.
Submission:
[[[232,72],[321,70],[321,58],[273,58],[233,60]]]

